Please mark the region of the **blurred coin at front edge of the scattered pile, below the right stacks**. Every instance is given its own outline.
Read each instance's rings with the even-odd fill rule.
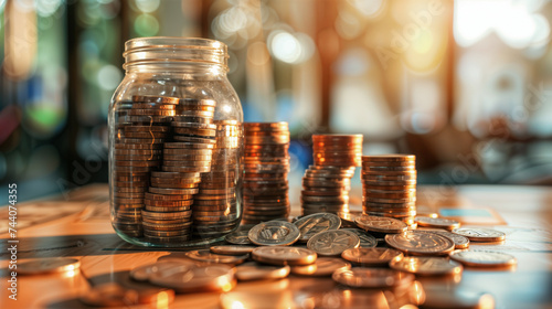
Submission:
[[[414,281],[414,275],[385,268],[351,268],[337,270],[331,278],[353,288],[390,288]]]

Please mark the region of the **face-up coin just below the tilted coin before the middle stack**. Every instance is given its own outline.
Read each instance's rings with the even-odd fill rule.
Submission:
[[[342,252],[360,245],[357,234],[344,230],[330,230],[320,232],[307,243],[307,248],[321,256],[341,255]]]

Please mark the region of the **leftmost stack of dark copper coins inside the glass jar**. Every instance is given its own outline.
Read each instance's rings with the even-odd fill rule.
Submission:
[[[132,96],[118,103],[112,158],[114,225],[129,237],[142,236],[144,199],[150,172],[161,164],[163,142],[170,137],[170,121],[179,98]]]

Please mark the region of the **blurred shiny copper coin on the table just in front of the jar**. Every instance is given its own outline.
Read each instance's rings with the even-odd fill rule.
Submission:
[[[177,292],[229,291],[235,286],[235,269],[227,265],[209,265],[191,269],[163,269],[153,273],[150,283]]]

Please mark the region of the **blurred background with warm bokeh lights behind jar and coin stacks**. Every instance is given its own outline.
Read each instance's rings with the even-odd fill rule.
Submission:
[[[293,184],[314,132],[414,153],[421,184],[550,184],[551,20],[549,0],[0,0],[0,196],[107,182],[124,42],[153,35],[229,45],[245,120],[290,125]]]

